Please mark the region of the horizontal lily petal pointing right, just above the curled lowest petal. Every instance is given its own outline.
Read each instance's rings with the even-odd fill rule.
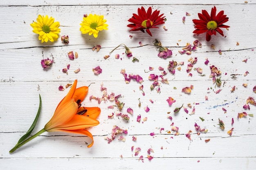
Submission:
[[[63,130],[76,130],[76,129],[85,129],[91,126],[97,126],[99,121],[93,119],[89,116],[84,115],[74,115],[70,121],[65,124],[60,124],[59,126],[54,126],[52,131],[56,131],[57,129]]]

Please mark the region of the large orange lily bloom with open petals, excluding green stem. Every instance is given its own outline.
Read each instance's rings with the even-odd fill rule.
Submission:
[[[77,80],[74,81],[70,91],[58,104],[52,119],[45,125],[44,129],[47,132],[62,131],[86,135],[92,139],[92,143],[88,145],[90,148],[94,141],[92,134],[85,128],[99,124],[96,119],[101,109],[98,107],[81,107],[81,102],[88,93],[88,87],[76,88],[76,84]]]

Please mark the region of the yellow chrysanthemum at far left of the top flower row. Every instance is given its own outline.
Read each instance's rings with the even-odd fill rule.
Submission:
[[[58,40],[58,33],[61,32],[60,22],[54,22],[54,18],[48,17],[48,15],[38,15],[37,22],[30,24],[33,28],[33,32],[39,34],[38,39],[43,42],[54,42]]]

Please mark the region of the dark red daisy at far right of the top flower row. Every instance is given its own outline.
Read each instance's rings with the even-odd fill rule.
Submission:
[[[223,31],[220,28],[229,28],[223,23],[227,22],[229,18],[227,15],[223,15],[224,11],[220,11],[216,15],[216,7],[211,8],[211,16],[206,10],[202,10],[202,13],[198,13],[200,20],[193,20],[195,24],[195,31],[193,33],[200,34],[206,32],[206,40],[211,40],[211,35],[216,35],[216,31],[220,35],[224,36]]]

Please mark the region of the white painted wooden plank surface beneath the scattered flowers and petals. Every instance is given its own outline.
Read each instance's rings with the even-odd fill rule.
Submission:
[[[193,35],[192,19],[197,19],[197,13],[202,9],[210,11],[216,5],[217,11],[225,10],[229,17],[227,25],[229,31],[224,30],[226,38],[220,35],[213,36],[210,42],[205,41],[205,35]],[[153,30],[153,37],[146,33],[129,32],[128,19],[132,13],[137,13],[138,7],[153,7],[159,9],[166,16],[164,26],[168,31],[160,29]],[[50,1],[50,0],[1,0],[1,38],[0,38],[0,169],[1,170],[113,170],[113,169],[256,169],[256,121],[254,117],[237,119],[240,112],[255,114],[256,108],[251,105],[250,110],[244,110],[243,105],[248,97],[256,98],[252,88],[256,85],[255,77],[255,36],[256,36],[256,4],[243,0],[232,2],[216,0],[205,2],[180,1],[180,0],[147,0],[138,1],[115,1],[94,0],[91,2],[77,1]],[[186,21],[182,23],[182,17],[188,12]],[[80,23],[85,13],[97,13],[104,15],[108,26],[107,31],[101,31],[98,38],[82,35],[79,31]],[[171,14],[172,13],[172,14]],[[41,44],[38,35],[32,32],[30,23],[36,20],[38,14],[53,16],[59,21],[61,35],[69,35],[70,44],[64,45],[60,38],[54,43]],[[133,38],[130,39],[129,35]],[[158,39],[163,46],[173,51],[172,57],[164,60],[157,57],[157,50],[152,42]],[[179,41],[181,40],[181,41]],[[191,55],[180,55],[178,53],[187,42],[194,40],[202,42],[202,48],[192,52]],[[141,42],[144,46],[140,46]],[[239,45],[236,45],[239,42]],[[132,62],[124,53],[122,47],[114,51],[105,60],[103,56],[108,55],[112,49],[119,44],[126,44],[134,57],[139,62]],[[177,43],[179,45],[177,45]],[[101,45],[99,52],[92,51],[92,46]],[[211,45],[216,46],[215,50]],[[219,55],[218,50],[222,51]],[[70,61],[67,57],[69,51],[79,54],[78,59]],[[120,54],[122,60],[115,59],[115,54]],[[53,67],[45,71],[40,65],[43,58],[54,58]],[[186,73],[187,60],[190,57],[198,57],[194,67],[201,67],[205,77],[201,77],[194,70],[192,77]],[[205,58],[208,57],[209,65],[205,65]],[[248,59],[247,62],[242,62]],[[165,77],[170,84],[161,84],[161,93],[155,90],[150,91],[150,74],[160,75],[158,67],[162,66],[167,70],[168,62],[175,60],[184,62],[181,71],[175,75],[168,73]],[[69,74],[62,73],[62,68],[70,64]],[[100,75],[94,75],[92,68],[102,68]],[[214,87],[209,79],[209,66],[215,65],[222,71],[220,88]],[[148,71],[148,67],[154,67],[154,71]],[[81,72],[75,74],[73,71],[81,68]],[[126,73],[139,74],[143,77],[145,96],[139,91],[141,84],[131,81],[124,82],[120,74],[121,69]],[[244,76],[248,71],[249,74]],[[227,74],[225,74],[227,73]],[[236,78],[234,77],[236,75]],[[9,150],[15,146],[18,139],[25,134],[36,115],[40,94],[42,97],[42,110],[38,124],[34,132],[44,127],[52,117],[54,110],[60,100],[67,94],[65,91],[58,91],[58,86],[72,83],[78,79],[78,86],[88,86],[88,96],[83,104],[85,106],[99,106],[101,115],[100,124],[90,128],[94,136],[94,145],[87,148],[90,143],[88,137],[66,133],[44,133],[36,137],[26,145],[22,146],[13,154]],[[243,87],[243,83],[248,86]],[[132,108],[134,114],[130,121],[126,122],[114,116],[108,119],[110,113],[119,113],[119,110],[108,109],[113,102],[101,102],[89,100],[89,96],[101,96],[101,84],[108,89],[108,93],[121,94],[121,102],[125,103],[122,113],[127,108]],[[181,92],[185,86],[193,85],[194,89],[190,95]],[[236,86],[234,93],[231,88]],[[174,87],[177,89],[175,90]],[[212,90],[207,90],[212,88]],[[214,91],[222,89],[218,94]],[[205,101],[205,95],[208,101]],[[166,102],[168,97],[173,97],[176,102],[170,107]],[[141,107],[139,108],[138,99]],[[152,104],[149,99],[152,99]],[[189,115],[181,110],[173,114],[175,107],[191,103],[195,107],[195,114]],[[148,106],[150,111],[146,113],[144,107]],[[224,113],[222,107],[227,110]],[[168,114],[168,112],[171,112]],[[189,108],[189,113],[191,109]],[[148,117],[143,124],[136,121],[137,115],[141,118]],[[172,116],[173,120],[167,119]],[[203,117],[205,121],[201,121]],[[225,123],[225,130],[219,128],[218,119]],[[231,126],[231,119],[234,124]],[[171,123],[179,127],[180,135],[175,136],[171,130]],[[194,124],[198,123],[202,128],[207,128],[207,133],[196,134]],[[111,136],[113,126],[119,126],[128,130],[124,135],[126,141],[115,139],[110,144],[104,137]],[[160,128],[164,128],[160,133]],[[234,128],[232,136],[227,131]],[[192,130],[191,141],[185,134]],[[34,134],[33,132],[33,134]],[[155,132],[155,136],[150,136]],[[132,141],[132,136],[137,141]],[[173,139],[172,139],[173,138]],[[211,139],[205,143],[205,139]],[[135,156],[131,147],[140,147],[141,152]],[[162,147],[162,149],[161,149]],[[154,150],[150,155],[154,158],[147,159],[147,150]],[[144,156],[144,163],[138,161],[139,156]]]

